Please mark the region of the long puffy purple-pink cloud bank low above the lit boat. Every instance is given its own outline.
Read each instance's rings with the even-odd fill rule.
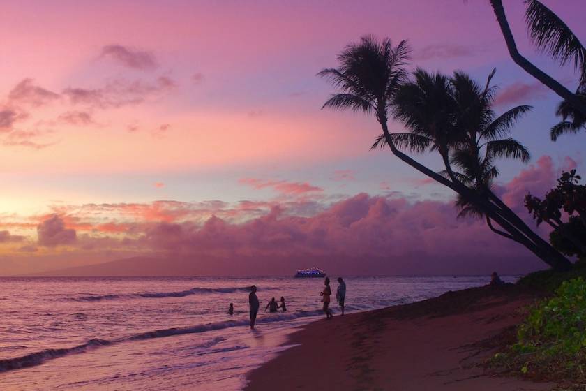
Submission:
[[[284,214],[276,206],[268,214],[240,224],[218,216],[202,226],[158,223],[138,244],[153,251],[193,254],[198,259],[215,256],[237,262],[250,256],[265,257],[276,267],[291,270],[306,258],[319,259],[320,265],[337,270],[350,267],[349,259],[380,262],[381,257],[389,259],[389,264],[380,264],[385,271],[414,270],[413,262],[426,265],[419,272],[428,271],[434,268],[433,259],[442,259],[447,263],[442,265],[444,270],[453,270],[460,259],[475,256],[493,257],[489,267],[499,259],[516,259],[519,266],[527,266],[530,256],[525,249],[494,235],[483,221],[458,220],[456,214],[445,202],[410,203],[363,193],[309,217]],[[465,269],[481,267],[468,265]]]

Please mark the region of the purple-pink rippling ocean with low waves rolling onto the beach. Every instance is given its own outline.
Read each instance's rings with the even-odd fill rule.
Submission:
[[[414,302],[489,279],[347,277],[346,310]],[[252,284],[261,304],[255,331],[248,327]],[[338,282],[331,286],[335,296]],[[324,318],[322,288],[322,279],[289,276],[0,278],[0,390],[241,390],[248,371],[287,348],[287,334]],[[287,312],[263,312],[281,296]],[[337,303],[331,308],[335,322]]]

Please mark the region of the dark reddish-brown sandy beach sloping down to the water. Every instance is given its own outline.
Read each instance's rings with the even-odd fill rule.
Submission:
[[[516,286],[471,288],[310,323],[248,374],[246,390],[550,390],[479,365],[512,341],[537,297]]]

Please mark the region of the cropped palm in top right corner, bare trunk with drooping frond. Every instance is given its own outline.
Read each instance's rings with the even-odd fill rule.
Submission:
[[[527,10],[525,12],[525,21],[529,36],[532,38],[538,50],[548,52],[550,57],[564,65],[572,62],[573,66],[580,73],[581,87],[586,87],[586,49],[580,43],[580,40],[573,34],[573,31],[561,20],[552,10],[544,6],[538,0],[525,0]],[[586,102],[581,100],[577,94],[573,94],[569,89],[564,87],[557,80],[553,79],[547,73],[541,71],[517,49],[515,38],[509,27],[509,21],[506,19],[502,0],[490,0],[493,6],[493,12],[499,22],[502,35],[506,42],[506,47],[513,61],[518,64],[525,72],[539,80],[546,87],[561,96],[564,101],[571,104],[575,110],[582,115],[586,115]],[[582,12],[582,10],[576,10]]]

